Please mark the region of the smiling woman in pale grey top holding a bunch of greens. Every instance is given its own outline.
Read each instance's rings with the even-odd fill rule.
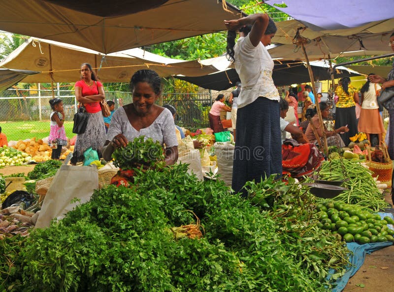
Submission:
[[[169,110],[155,105],[161,94],[159,75],[153,70],[139,70],[132,75],[130,85],[132,103],[114,112],[102,148],[103,158],[110,161],[115,148],[144,135],[165,145],[164,162],[174,164],[178,159],[174,118]]]

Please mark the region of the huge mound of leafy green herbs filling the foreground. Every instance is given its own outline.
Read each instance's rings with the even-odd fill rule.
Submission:
[[[344,272],[348,250],[293,180],[248,183],[245,199],[186,171],[137,171],[130,188],[96,190],[51,227],[0,241],[0,290],[323,292],[329,268]],[[169,228],[196,220],[188,210],[203,238],[175,241]]]

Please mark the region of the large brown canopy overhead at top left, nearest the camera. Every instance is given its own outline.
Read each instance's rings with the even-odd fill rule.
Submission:
[[[0,0],[0,30],[104,54],[214,33],[241,12],[222,0]]]

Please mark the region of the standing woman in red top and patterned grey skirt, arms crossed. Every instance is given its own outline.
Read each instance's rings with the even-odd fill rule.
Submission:
[[[89,119],[85,133],[77,135],[71,158],[73,165],[83,163],[83,153],[88,148],[96,150],[101,158],[101,147],[105,142],[105,126],[100,106],[100,101],[105,99],[104,89],[88,63],[81,66],[81,80],[75,83],[75,98],[83,104],[89,113]]]

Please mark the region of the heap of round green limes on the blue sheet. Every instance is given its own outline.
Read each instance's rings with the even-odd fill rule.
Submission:
[[[394,242],[394,230],[388,224],[393,225],[394,220],[386,216],[382,220],[378,214],[370,213],[355,205],[349,205],[342,201],[326,200],[318,206],[320,228],[331,230],[333,234],[341,235],[345,242],[357,242],[359,244],[373,242]]]

